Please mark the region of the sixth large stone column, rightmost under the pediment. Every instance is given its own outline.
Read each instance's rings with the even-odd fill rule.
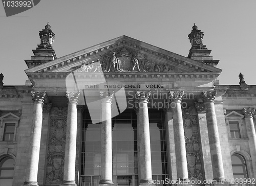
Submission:
[[[202,100],[205,105],[206,122],[208,128],[208,138],[211,154],[211,164],[214,180],[216,180],[217,182],[223,182],[225,181],[225,176],[221,154],[218,124],[214,106],[215,95],[216,91],[203,91]]]

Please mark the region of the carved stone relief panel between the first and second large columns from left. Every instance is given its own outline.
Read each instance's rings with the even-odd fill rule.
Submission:
[[[47,184],[61,184],[63,181],[67,114],[67,107],[54,107],[51,110],[46,170]]]

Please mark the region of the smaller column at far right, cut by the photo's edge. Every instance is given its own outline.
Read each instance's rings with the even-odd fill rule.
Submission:
[[[252,168],[255,175],[256,174],[256,133],[255,133],[255,127],[253,124],[253,114],[255,113],[255,108],[244,108],[243,113],[245,115],[246,131],[249,138],[249,148],[250,148],[250,155],[251,155],[251,161],[252,161]]]

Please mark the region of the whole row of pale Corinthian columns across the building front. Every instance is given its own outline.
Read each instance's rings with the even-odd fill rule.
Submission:
[[[66,92],[69,98],[66,149],[65,149],[65,166],[63,173],[63,182],[61,185],[75,186],[75,157],[76,157],[76,133],[77,133],[77,104],[79,102],[79,92]],[[181,101],[184,92],[170,91],[168,104],[173,104],[173,130],[175,143],[175,156],[177,164],[177,178],[180,183],[189,183],[187,159],[185,149],[185,135],[183,128]],[[101,97],[101,172],[99,184],[113,184],[112,180],[112,115],[111,104],[114,93],[109,91],[100,91]],[[221,145],[218,132],[218,124],[215,113],[214,100],[216,91],[203,91],[202,101],[204,102],[208,138],[210,145],[210,154],[212,162],[212,171],[214,180],[225,181],[224,167],[222,162]],[[47,99],[46,92],[32,92],[34,102],[34,112],[32,120],[31,145],[29,153],[29,162],[27,169],[26,181],[23,185],[38,185],[37,171],[39,162],[39,149],[42,125],[42,105]],[[137,129],[138,129],[138,156],[139,156],[139,177],[140,185],[152,183],[152,166],[151,166],[151,148],[150,148],[150,126],[148,119],[148,99],[150,92],[137,91]],[[253,125],[252,115],[255,109],[244,109],[245,121],[247,125],[250,149],[254,149],[256,158],[256,134]],[[167,114],[168,115],[168,114]],[[255,161],[256,162],[256,159]],[[256,167],[256,165],[254,165]],[[254,168],[254,167],[253,167]]]

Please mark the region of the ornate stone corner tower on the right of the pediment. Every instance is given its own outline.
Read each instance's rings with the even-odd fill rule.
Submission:
[[[188,34],[191,48],[187,57],[215,67],[220,60],[214,60],[212,56],[210,56],[211,50],[208,50],[206,45],[203,44],[203,37],[204,32],[198,30],[198,27],[194,24],[191,33]]]

